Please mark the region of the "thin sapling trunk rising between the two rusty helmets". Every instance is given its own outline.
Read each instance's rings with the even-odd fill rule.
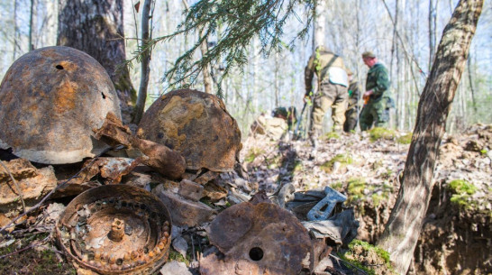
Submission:
[[[135,113],[132,123],[139,124],[143,110],[145,109],[145,101],[147,99],[147,87],[149,86],[150,75],[150,49],[147,48],[149,40],[152,39],[149,31],[150,21],[150,6],[152,0],[145,0],[143,3],[143,9],[141,10],[141,80],[139,87],[139,95],[137,97],[137,103],[135,105]],[[147,49],[146,49],[147,48]]]

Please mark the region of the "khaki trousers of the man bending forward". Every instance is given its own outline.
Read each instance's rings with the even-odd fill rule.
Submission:
[[[341,132],[348,103],[349,93],[347,87],[329,82],[322,83],[317,95],[314,96],[313,122],[309,132],[314,135],[321,133],[324,114],[326,114],[329,107],[332,107],[333,131]]]

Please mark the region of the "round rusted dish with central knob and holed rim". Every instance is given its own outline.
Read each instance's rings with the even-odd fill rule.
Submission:
[[[168,259],[171,217],[142,188],[105,185],[74,198],[56,225],[62,250],[100,274],[152,274]]]

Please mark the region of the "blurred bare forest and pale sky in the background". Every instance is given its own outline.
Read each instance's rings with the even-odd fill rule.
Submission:
[[[419,95],[431,68],[433,53],[442,30],[449,22],[457,0],[326,0],[324,43],[341,55],[364,87],[367,68],[360,54],[372,50],[387,65],[396,100],[392,127],[412,131]],[[138,0],[123,1],[123,23],[126,58],[132,59],[141,37],[141,9]],[[141,3],[143,4],[143,3]],[[150,21],[152,37],[176,31],[185,18],[187,7],[194,1],[157,0]],[[304,68],[313,52],[313,28],[305,40],[295,41],[293,50],[287,44],[306,23],[302,1],[296,16],[284,28],[279,52],[269,56],[260,53],[261,41],[249,45],[248,63],[235,68],[223,79],[222,96],[241,126],[243,135],[260,113],[278,106],[294,105],[300,111],[305,94]],[[57,41],[58,0],[0,0],[0,76],[30,49],[52,46]],[[220,29],[220,28],[219,28]],[[164,77],[175,60],[195,43],[200,33],[178,35],[171,41],[160,41],[152,50],[150,80],[146,105],[169,91]],[[209,49],[216,41],[207,41]],[[31,47],[30,47],[31,45]],[[201,56],[196,54],[196,59]],[[220,78],[225,64],[211,66],[212,78]],[[139,87],[140,63],[130,68],[133,87]],[[193,86],[205,91],[200,75]],[[460,132],[469,124],[492,123],[492,6],[486,1],[477,32],[469,51],[469,60],[461,78],[455,102],[448,119],[448,131]],[[216,92],[216,86],[214,92]],[[328,116],[329,114],[327,114]],[[325,119],[331,123],[330,119]]]

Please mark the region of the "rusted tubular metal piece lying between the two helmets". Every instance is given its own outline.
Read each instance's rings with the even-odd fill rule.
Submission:
[[[103,126],[95,129],[94,132],[97,139],[102,139],[108,144],[123,144],[126,147],[140,150],[148,157],[142,160],[143,163],[171,179],[179,179],[185,172],[186,162],[178,151],[132,136],[128,126],[123,126],[121,120],[114,114],[108,114]]]

